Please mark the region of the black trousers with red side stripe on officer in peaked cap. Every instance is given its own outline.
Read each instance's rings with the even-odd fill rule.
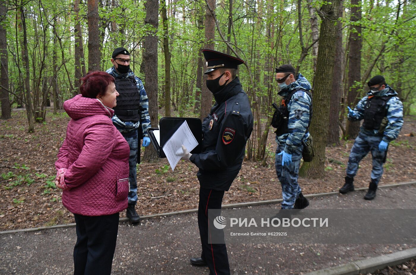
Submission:
[[[201,258],[206,261],[210,275],[229,275],[227,248],[225,244],[209,243],[210,230],[214,228],[213,221],[208,220],[208,209],[221,209],[224,191],[200,188],[198,205],[198,226],[201,235]]]

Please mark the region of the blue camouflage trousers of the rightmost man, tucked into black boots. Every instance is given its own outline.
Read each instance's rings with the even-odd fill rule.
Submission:
[[[382,136],[370,136],[359,132],[354,141],[349,154],[347,176],[353,178],[358,171],[359,162],[371,151],[373,157],[373,170],[371,171],[371,180],[379,184],[380,178],[383,175],[383,163],[387,152],[379,151],[379,144]]]

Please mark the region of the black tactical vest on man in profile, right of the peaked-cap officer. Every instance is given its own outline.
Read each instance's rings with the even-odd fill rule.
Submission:
[[[311,99],[311,103],[309,106],[309,124],[306,128],[306,131],[309,130],[309,126],[312,120],[312,94],[306,89],[296,88],[286,95],[286,97],[282,100],[282,104],[280,105],[280,107],[277,107],[275,113],[273,114],[272,126],[276,128],[275,133],[277,136],[289,133],[289,129],[287,127],[289,124],[289,110],[287,109],[287,104],[289,103],[293,94],[295,94],[295,92],[298,91],[305,92]]]

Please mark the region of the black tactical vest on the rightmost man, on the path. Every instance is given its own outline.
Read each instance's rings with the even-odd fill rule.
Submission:
[[[381,121],[387,115],[386,104],[394,94],[385,97],[369,97],[364,107],[363,127],[367,130],[380,129]]]

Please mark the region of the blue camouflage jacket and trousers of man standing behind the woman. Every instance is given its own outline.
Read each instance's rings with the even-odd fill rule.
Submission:
[[[138,142],[138,128],[141,124],[141,129],[143,136],[149,136],[147,134],[147,129],[151,127],[150,125],[150,116],[149,116],[149,100],[147,98],[146,91],[143,86],[143,82],[139,77],[134,75],[134,72],[129,72],[127,74],[120,74],[115,69],[114,66],[106,70],[107,73],[111,74],[114,78],[126,78],[133,76],[136,80],[137,90],[140,93],[140,121],[121,121],[116,115],[111,119],[114,126],[121,132],[126,141],[130,146],[130,157],[129,157],[129,181],[130,181],[130,191],[129,191],[129,204],[136,204],[137,202],[137,180],[136,180],[136,164],[137,164],[137,149],[140,146]]]

